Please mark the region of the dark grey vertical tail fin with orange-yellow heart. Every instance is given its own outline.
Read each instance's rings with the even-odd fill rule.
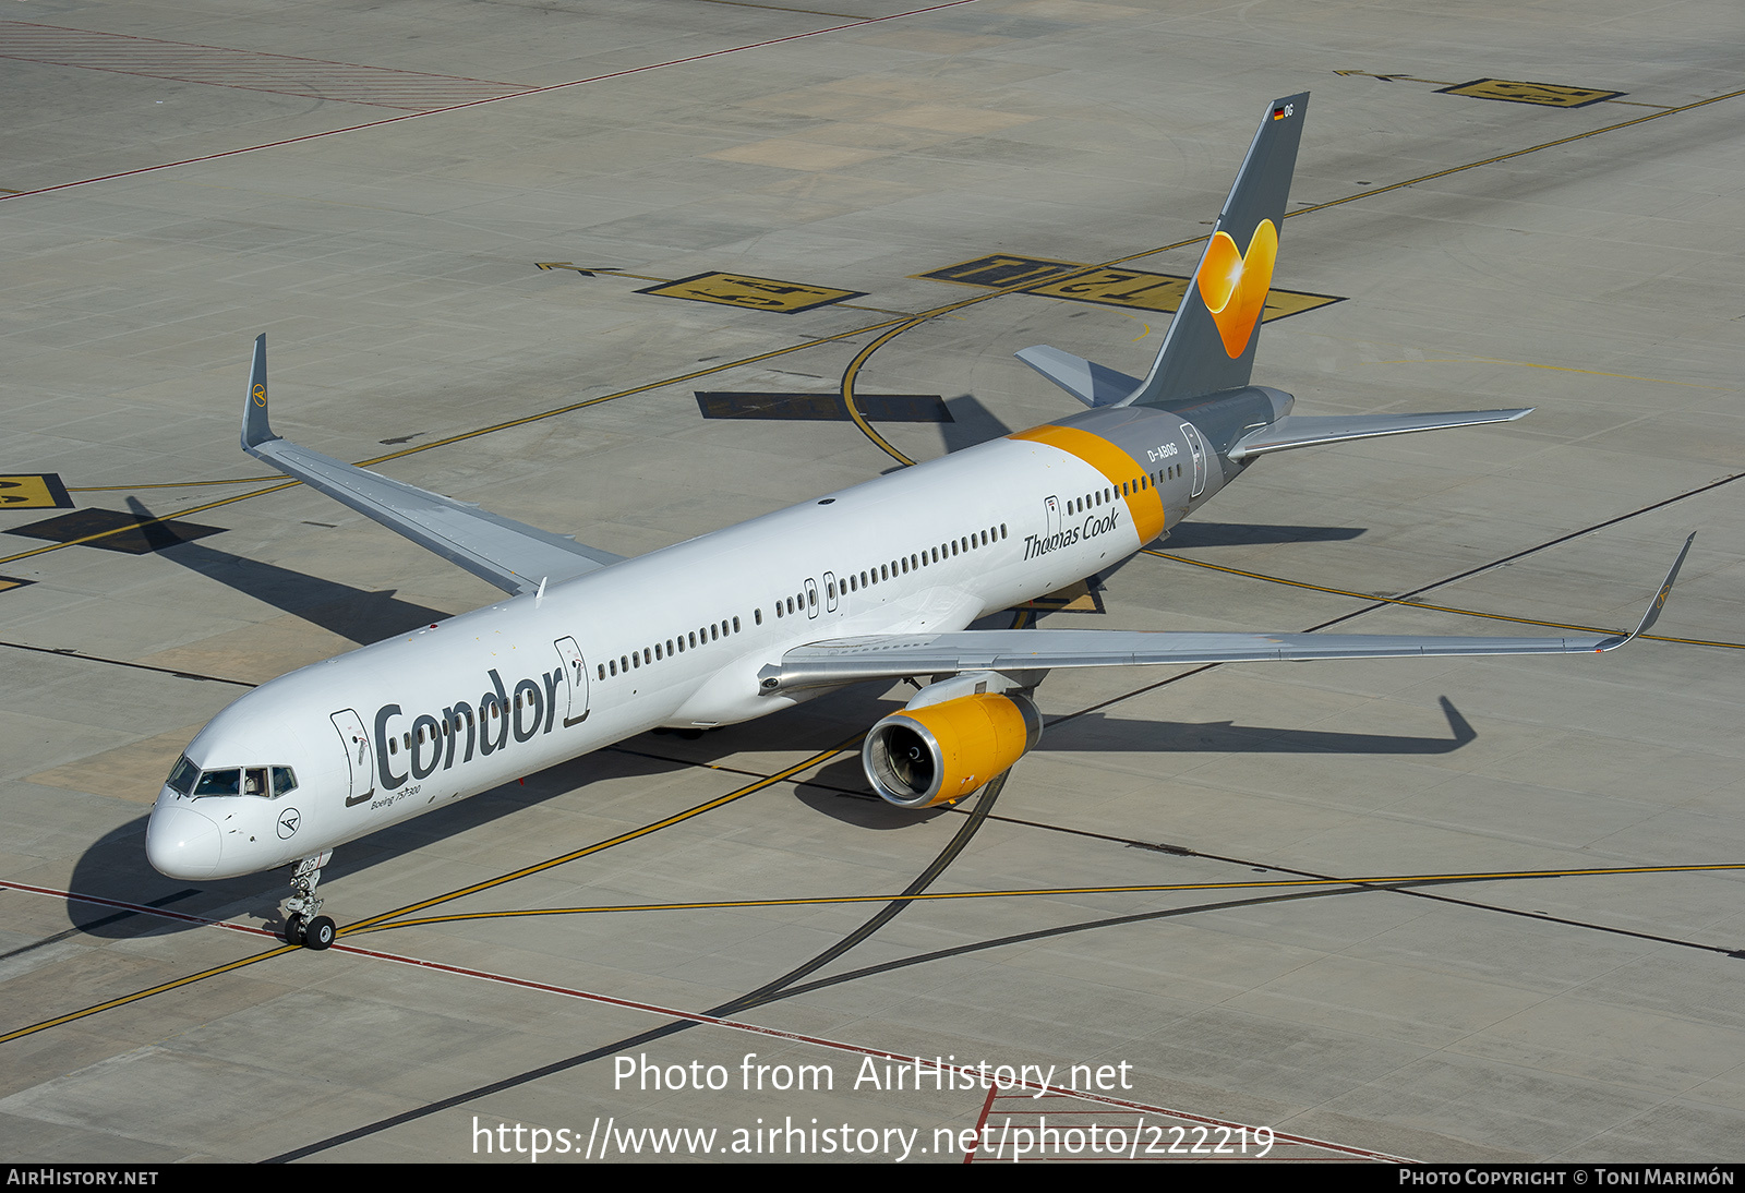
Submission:
[[[1307,91],[1267,108],[1157,361],[1119,405],[1160,405],[1248,384],[1307,112]]]

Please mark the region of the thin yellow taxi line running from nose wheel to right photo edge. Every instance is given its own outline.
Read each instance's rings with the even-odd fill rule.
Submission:
[[[1708,865],[1625,865],[1588,870],[1490,870],[1473,874],[1382,874],[1372,877],[1328,877],[1328,879],[1262,879],[1242,883],[1167,883],[1139,886],[1049,886],[1010,891],[923,891],[920,895],[818,895],[811,898],[733,898],[701,903],[618,903],[606,907],[530,907],[524,910],[496,912],[455,912],[452,916],[429,916],[426,919],[403,919],[393,924],[380,924],[370,931],[389,928],[415,928],[421,924],[447,924],[464,919],[520,919],[527,916],[593,916],[602,912],[654,912],[654,910],[733,910],[743,907],[813,907],[827,903],[892,903],[921,900],[958,900],[958,898],[1026,898],[1047,895],[1159,895],[1171,891],[1241,891],[1256,888],[1300,888],[1300,886],[1401,886],[1420,883],[1483,883],[1504,879],[1537,877],[1595,877],[1611,874],[1682,874],[1696,870],[1745,870],[1745,862],[1717,862]]]

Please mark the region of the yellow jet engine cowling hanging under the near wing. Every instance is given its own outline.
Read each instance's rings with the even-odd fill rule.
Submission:
[[[1042,713],[1016,692],[958,696],[885,717],[860,746],[872,790],[899,808],[934,808],[979,790],[1042,738]]]

